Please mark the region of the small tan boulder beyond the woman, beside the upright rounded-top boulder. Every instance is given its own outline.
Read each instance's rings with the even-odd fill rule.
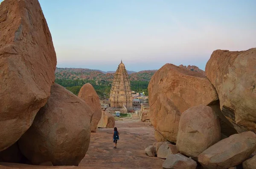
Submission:
[[[113,117],[109,112],[102,111],[102,117],[99,120],[99,128],[114,128],[115,117]]]

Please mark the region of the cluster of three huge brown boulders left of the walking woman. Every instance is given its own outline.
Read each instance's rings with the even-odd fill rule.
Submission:
[[[99,97],[54,83],[56,54],[38,0],[0,4],[0,161],[78,166],[101,118]]]

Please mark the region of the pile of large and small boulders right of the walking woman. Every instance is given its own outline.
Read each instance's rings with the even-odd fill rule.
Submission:
[[[255,65],[253,48],[214,51],[206,75],[172,64],[159,69],[148,85],[158,143],[146,154],[165,158],[165,169],[256,169]]]

